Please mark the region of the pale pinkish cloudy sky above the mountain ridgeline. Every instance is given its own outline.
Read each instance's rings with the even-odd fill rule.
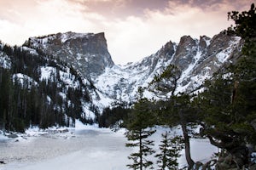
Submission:
[[[137,61],[183,35],[212,37],[227,12],[256,0],[0,0],[0,40],[21,45],[57,32],[105,32],[116,64]]]

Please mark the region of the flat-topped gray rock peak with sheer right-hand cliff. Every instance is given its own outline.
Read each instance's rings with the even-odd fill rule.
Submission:
[[[113,66],[104,33],[66,32],[45,37],[31,37],[24,46],[37,48],[55,59],[73,65],[89,79],[101,75],[106,67]]]

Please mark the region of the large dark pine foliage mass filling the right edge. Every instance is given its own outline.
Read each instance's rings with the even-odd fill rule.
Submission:
[[[205,83],[200,108],[204,116],[202,134],[227,150],[237,167],[248,164],[245,144],[256,144],[256,8],[229,13],[236,26],[228,33],[244,42],[240,58]]]

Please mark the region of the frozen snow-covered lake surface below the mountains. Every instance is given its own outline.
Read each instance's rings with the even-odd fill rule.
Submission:
[[[125,130],[114,133],[108,128],[81,126],[70,128],[66,133],[33,132],[17,139],[0,135],[0,170],[126,170],[131,163],[127,156],[133,151],[126,148]],[[152,139],[160,141],[158,127]],[[209,159],[218,151],[207,139],[191,139],[192,157],[195,161]],[[185,158],[179,159],[181,165]]]

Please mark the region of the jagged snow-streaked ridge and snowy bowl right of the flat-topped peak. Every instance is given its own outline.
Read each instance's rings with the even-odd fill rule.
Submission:
[[[147,88],[154,75],[172,64],[182,71],[176,93],[192,92],[240,50],[239,42],[240,38],[228,37],[223,33],[212,39],[203,36],[198,40],[184,36],[178,44],[167,42],[156,54],[137,63],[108,67],[96,77],[95,86],[110,99],[133,101],[137,98],[138,87]],[[147,90],[144,95],[155,97]]]

